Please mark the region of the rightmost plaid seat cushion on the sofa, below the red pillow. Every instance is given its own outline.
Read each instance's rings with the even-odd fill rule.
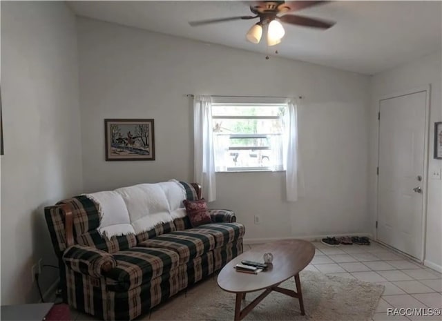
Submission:
[[[238,223],[213,223],[204,224],[197,228],[192,228],[189,231],[192,231],[192,233],[212,235],[215,238],[215,248],[217,248],[242,238],[245,229],[244,225]]]

